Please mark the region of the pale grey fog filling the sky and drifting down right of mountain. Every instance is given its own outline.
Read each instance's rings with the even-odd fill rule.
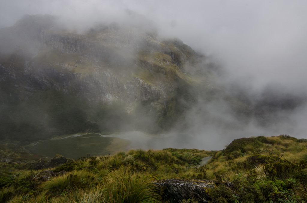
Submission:
[[[220,67],[216,72],[219,85],[231,95],[244,95],[251,106],[262,104],[268,89],[267,94],[281,95],[274,96],[272,104],[287,98],[299,100],[293,108],[272,110],[269,120],[275,122],[259,127],[259,121],[253,119],[243,126],[223,101],[204,106],[199,98],[182,121],[188,125],[183,134],[193,136],[185,140],[173,129],[174,135],[169,135],[163,147],[205,145],[213,150],[239,137],[290,134],[307,138],[306,7],[306,1],[282,0],[12,0],[0,2],[0,28],[14,25],[24,14],[46,13],[64,17],[62,23],[77,32],[100,22],[142,23],[155,27],[161,37],[179,38],[208,56]],[[126,10],[135,16],[127,20]],[[204,119],[208,115],[211,119]],[[174,143],[178,144],[172,146]]]

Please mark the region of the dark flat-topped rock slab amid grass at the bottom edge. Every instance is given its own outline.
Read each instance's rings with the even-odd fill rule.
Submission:
[[[171,202],[193,199],[197,202],[212,200],[206,193],[206,188],[214,187],[212,181],[204,180],[154,180],[153,184],[162,193],[162,198]]]

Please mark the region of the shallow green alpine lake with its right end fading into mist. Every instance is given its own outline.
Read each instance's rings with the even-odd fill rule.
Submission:
[[[201,140],[204,140],[201,138]],[[110,135],[77,133],[39,140],[25,146],[32,154],[79,159],[87,156],[103,156],[130,149],[197,148],[205,149],[203,141],[187,134],[169,133],[152,135],[140,131],[120,132]],[[207,144],[210,144],[207,142]],[[207,145],[208,146],[208,145]],[[88,155],[89,154],[89,155]]]

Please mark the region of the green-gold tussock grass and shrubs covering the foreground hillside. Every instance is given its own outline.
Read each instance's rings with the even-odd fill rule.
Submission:
[[[211,180],[209,202],[307,201],[307,140],[288,135],[241,138],[222,151],[138,149],[78,160],[31,161],[39,157],[0,144],[0,202],[178,202],[153,184],[173,178]]]

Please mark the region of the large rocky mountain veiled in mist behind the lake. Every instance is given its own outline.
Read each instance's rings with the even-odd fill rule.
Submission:
[[[237,128],[256,115],[266,123],[261,102],[267,109],[276,102],[253,104],[227,92],[206,56],[135,19],[141,17],[129,11],[126,21],[77,32],[60,17],[25,15],[0,29],[1,138],[181,131],[194,122],[187,112],[212,103],[200,110],[204,122]],[[227,109],[239,123],[215,109]]]

